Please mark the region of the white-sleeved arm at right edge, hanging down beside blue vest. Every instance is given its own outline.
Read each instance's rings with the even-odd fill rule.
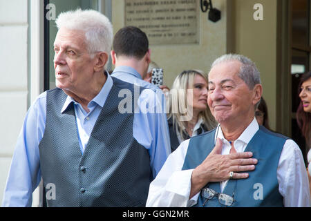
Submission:
[[[293,140],[287,140],[277,169],[279,192],[285,207],[309,207],[310,189],[303,155]]]

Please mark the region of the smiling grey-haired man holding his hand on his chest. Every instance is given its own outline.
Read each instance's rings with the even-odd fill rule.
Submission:
[[[151,182],[147,206],[310,206],[299,146],[256,122],[261,95],[261,79],[250,59],[216,59],[207,102],[219,124],[169,155]],[[239,160],[244,166],[236,166],[232,159],[241,153],[252,153],[254,162]]]

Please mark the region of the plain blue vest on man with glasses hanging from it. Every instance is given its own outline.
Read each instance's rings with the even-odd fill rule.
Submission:
[[[192,137],[189,142],[187,155],[182,170],[195,169],[209,155],[215,146],[216,130]],[[245,148],[245,152],[252,152],[253,157],[258,160],[254,171],[247,171],[249,177],[241,180],[229,180],[223,193],[232,196],[234,193],[234,204],[232,206],[283,206],[283,197],[279,193],[279,183],[276,177],[276,169],[279,165],[281,151],[288,140],[283,135],[272,133],[263,126],[255,133],[252,140]],[[207,184],[209,189],[221,193],[220,183],[211,182]],[[205,198],[201,193],[198,203],[194,206],[202,206]],[[214,197],[205,203],[205,206],[224,206]]]

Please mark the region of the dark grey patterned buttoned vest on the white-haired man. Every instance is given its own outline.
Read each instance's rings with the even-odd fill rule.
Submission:
[[[48,206],[145,205],[151,181],[149,153],[133,138],[133,113],[118,111],[122,88],[133,92],[133,84],[113,78],[83,155],[74,104],[61,113],[67,95],[59,88],[47,92],[39,155]]]

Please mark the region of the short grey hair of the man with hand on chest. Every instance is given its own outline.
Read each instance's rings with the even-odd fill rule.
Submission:
[[[236,55],[236,54],[227,54],[223,55],[221,57],[218,57],[213,64],[211,64],[211,68],[216,66],[216,64],[220,64],[227,61],[240,61],[241,62],[241,68],[240,72],[238,73],[238,77],[243,79],[245,84],[249,87],[249,89],[254,88],[256,84],[261,84],[261,76],[260,73],[256,67],[256,64],[254,62],[243,56],[243,55]]]

